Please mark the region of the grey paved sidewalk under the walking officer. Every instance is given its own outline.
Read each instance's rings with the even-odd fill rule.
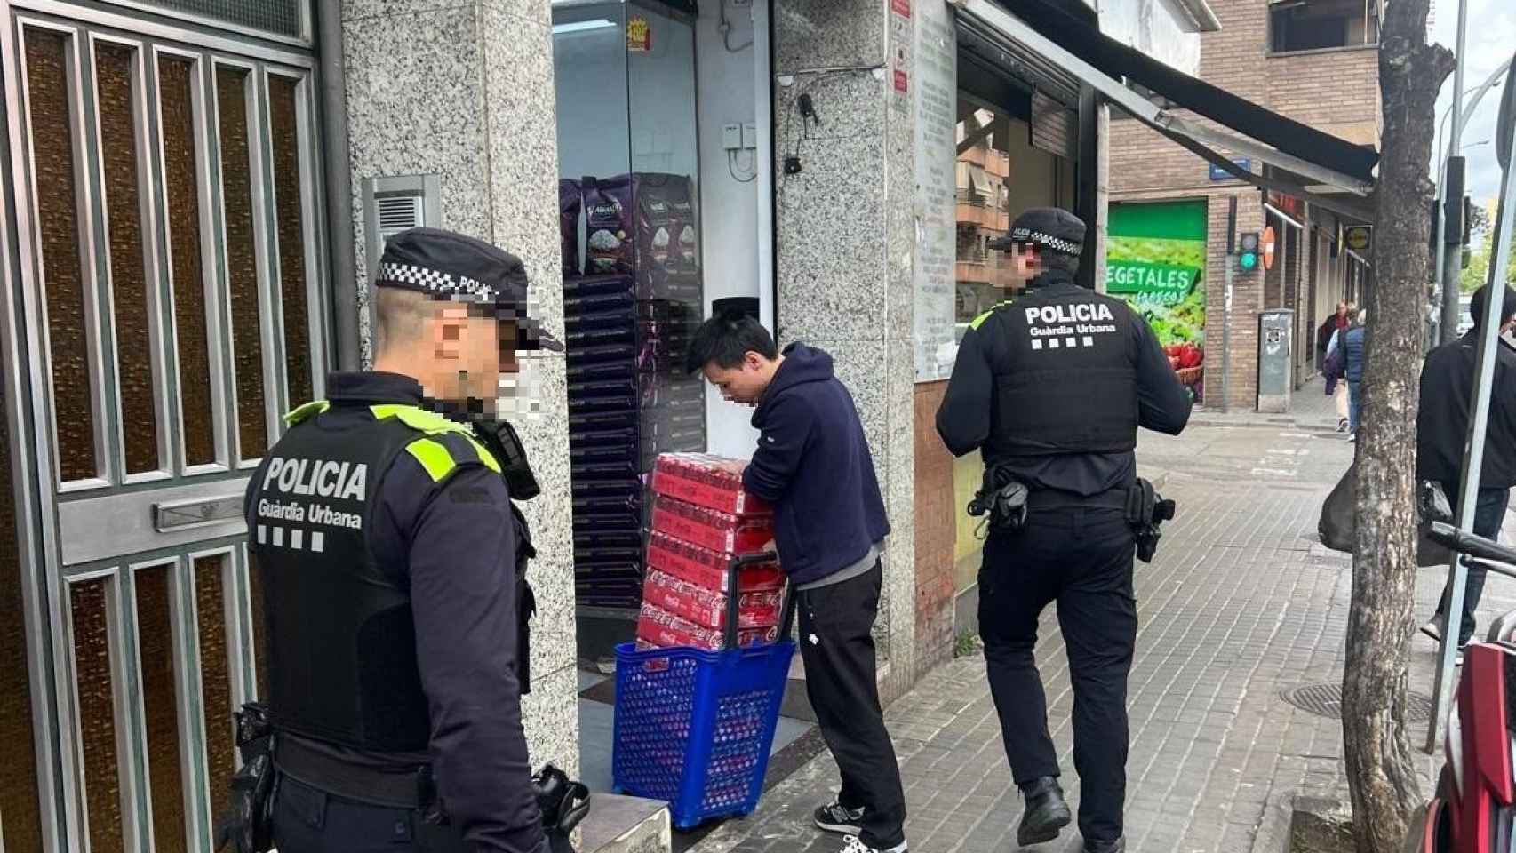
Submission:
[[[1142,629],[1129,683],[1128,850],[1248,853],[1278,792],[1342,786],[1340,721],[1286,703],[1281,691],[1340,683],[1351,588],[1345,555],[1316,542],[1320,500],[1351,461],[1339,436],[1289,429],[1198,427],[1145,439],[1149,465],[1170,471],[1179,501],[1154,565],[1139,564]],[[1422,573],[1425,617],[1443,571]],[[1484,611],[1516,608],[1490,580]],[[1055,614],[1043,617],[1038,664],[1070,803],[1067,664]],[[1411,689],[1431,692],[1433,645],[1413,645]],[[1010,780],[984,662],[926,676],[887,711],[907,783],[911,850],[1014,850],[1020,797]],[[1420,744],[1424,724],[1416,729]],[[1430,773],[1434,762],[1425,759]],[[770,791],[746,821],[716,829],[700,853],[832,851],[810,811],[835,789],[829,756]],[[1079,850],[1070,827],[1038,851]]]

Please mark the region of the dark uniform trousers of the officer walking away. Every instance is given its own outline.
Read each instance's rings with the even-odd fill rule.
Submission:
[[[1122,489],[1125,494],[1125,489]],[[1032,505],[1022,530],[991,530],[979,570],[979,635],[1005,756],[1017,785],[1058,776],[1048,698],[1032,647],[1037,620],[1058,603],[1073,682],[1073,765],[1079,832],[1122,835],[1126,798],[1126,676],[1137,641],[1135,535],[1110,495]]]

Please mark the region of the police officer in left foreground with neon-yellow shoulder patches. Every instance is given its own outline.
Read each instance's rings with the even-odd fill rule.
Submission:
[[[374,371],[332,374],[249,485],[273,844],[543,851],[520,521],[500,461],[459,420],[491,415],[520,350],[561,347],[526,317],[522,262],[490,244],[403,232],[374,285]]]

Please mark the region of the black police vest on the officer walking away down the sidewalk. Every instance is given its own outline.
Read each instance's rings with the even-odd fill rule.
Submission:
[[[1063,288],[993,314],[1011,358],[996,368],[988,459],[1137,447],[1135,320],[1123,302]]]

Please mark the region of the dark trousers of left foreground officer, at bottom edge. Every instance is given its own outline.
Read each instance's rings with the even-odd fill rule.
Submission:
[[[359,803],[285,773],[274,792],[274,847],[279,853],[470,853],[458,827],[426,823],[418,809]]]

